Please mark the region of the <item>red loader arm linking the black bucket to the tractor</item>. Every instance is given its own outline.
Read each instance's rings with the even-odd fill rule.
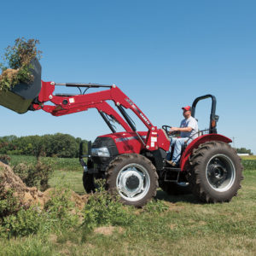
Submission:
[[[78,88],[104,87],[108,89],[79,95],[54,95],[55,86],[57,85],[73,86]],[[106,101],[113,101],[116,107],[119,109],[119,112],[122,113],[124,119]],[[48,105],[47,102],[51,102],[53,104]],[[144,140],[143,137],[137,133],[137,136],[141,143],[143,143],[143,146],[148,150],[155,150],[158,148],[158,144],[155,142],[155,137],[157,137],[157,127],[152,125],[140,108],[138,108],[137,105],[132,102],[131,99],[126,96],[125,93],[115,84],[55,84],[54,82],[42,81],[42,88],[38,98],[32,103],[32,110],[43,109],[45,112],[51,113],[54,116],[78,113],[81,111],[86,111],[89,108],[96,108],[99,113],[103,112],[107,113],[109,116],[113,116],[113,118],[123,126],[125,131],[135,131],[137,133],[135,125],[132,124],[131,119],[125,113],[125,109],[131,109],[131,111],[135,113],[148,128],[146,140]],[[153,140],[152,137],[154,137]],[[152,141],[154,141],[154,143],[152,143]]]

